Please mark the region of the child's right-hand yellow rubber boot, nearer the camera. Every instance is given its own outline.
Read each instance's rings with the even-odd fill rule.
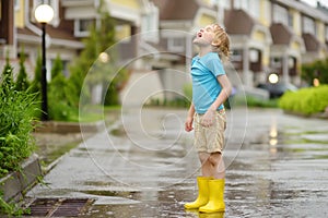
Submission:
[[[199,208],[200,213],[218,213],[225,210],[224,179],[209,181],[209,202]]]

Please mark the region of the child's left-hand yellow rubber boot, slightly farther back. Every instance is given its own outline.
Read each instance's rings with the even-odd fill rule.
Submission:
[[[198,197],[195,202],[186,203],[186,209],[198,209],[199,207],[206,205],[209,201],[209,180],[210,178],[198,177],[197,185],[198,185]]]

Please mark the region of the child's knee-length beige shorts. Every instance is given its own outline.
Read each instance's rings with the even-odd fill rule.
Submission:
[[[224,110],[215,113],[214,123],[206,128],[200,124],[203,114],[195,113],[195,147],[198,152],[222,153],[224,147],[224,131],[226,129],[226,116]]]

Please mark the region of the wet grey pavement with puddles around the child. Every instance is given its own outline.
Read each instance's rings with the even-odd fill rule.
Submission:
[[[124,111],[65,155],[28,198],[92,199],[80,217],[328,217],[327,120],[276,109],[227,112],[226,211],[186,211],[200,174],[186,112]]]

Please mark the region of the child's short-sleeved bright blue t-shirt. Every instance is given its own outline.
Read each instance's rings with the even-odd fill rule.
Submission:
[[[216,52],[192,58],[192,101],[197,113],[206,113],[218,98],[222,87],[216,76],[223,74],[225,74],[225,71]],[[218,110],[223,108],[224,106],[221,105]]]

